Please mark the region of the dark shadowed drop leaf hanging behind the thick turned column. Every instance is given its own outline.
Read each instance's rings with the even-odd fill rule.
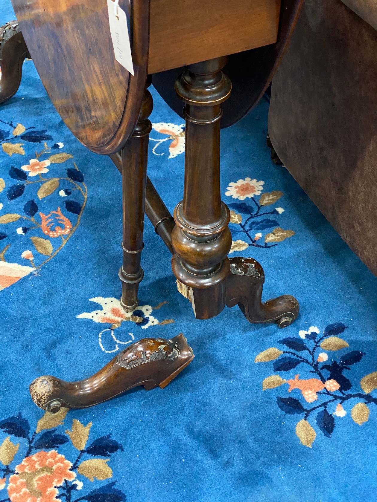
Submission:
[[[228,57],[223,68],[232,82],[232,93],[223,103],[221,127],[232,126],[256,105],[268,87],[296,25],[303,0],[281,0],[276,43]],[[229,2],[229,6],[232,3]],[[216,17],[214,18],[216,19]],[[230,35],[237,38],[237,29]],[[184,71],[175,68],[153,75],[153,86],[166,103],[183,118],[182,103],[174,92],[174,82]]]

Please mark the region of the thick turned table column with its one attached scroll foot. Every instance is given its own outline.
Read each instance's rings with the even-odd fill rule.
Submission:
[[[261,266],[251,258],[227,257],[230,213],[220,194],[221,103],[231,92],[221,71],[225,62],[217,58],[190,65],[175,82],[185,103],[186,147],[183,200],[174,210],[172,269],[198,319],[238,305],[250,322],[285,327],[299,313],[297,300],[284,295],[262,303]]]

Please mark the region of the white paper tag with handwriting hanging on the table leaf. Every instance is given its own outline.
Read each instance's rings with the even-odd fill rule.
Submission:
[[[119,0],[112,2],[108,0],[110,33],[113,41],[115,59],[126,70],[134,75],[134,65],[132,64],[132,54],[130,36],[127,26],[126,13],[119,7]]]

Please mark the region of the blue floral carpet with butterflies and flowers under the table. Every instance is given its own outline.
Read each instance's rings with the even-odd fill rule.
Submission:
[[[3,23],[14,19],[8,0],[0,6]],[[172,211],[182,120],[152,93],[148,171]],[[296,296],[297,321],[250,325],[237,307],[196,321],[149,221],[143,320],[109,319],[107,299],[121,291],[121,178],[70,134],[25,62],[0,107],[2,502],[375,500],[377,279],[271,163],[267,112],[261,101],[222,132],[230,256],[262,264],[264,298]],[[31,401],[41,374],[79,380],[132,340],[179,332],[196,358],[164,390],[66,416]]]

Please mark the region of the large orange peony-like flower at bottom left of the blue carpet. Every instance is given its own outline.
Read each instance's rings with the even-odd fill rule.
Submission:
[[[11,502],[61,502],[56,498],[56,487],[76,477],[70,467],[71,462],[56,450],[39,451],[24,458],[16,467],[17,474],[9,478]]]

